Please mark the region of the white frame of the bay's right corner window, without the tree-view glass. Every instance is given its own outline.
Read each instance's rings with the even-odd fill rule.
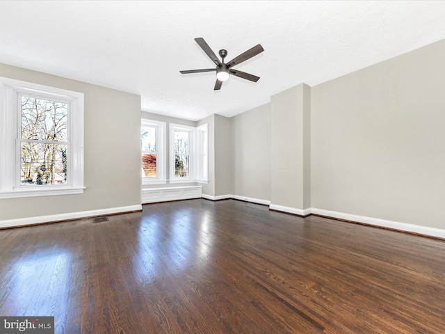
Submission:
[[[188,132],[189,149],[189,170],[187,177],[175,176],[175,130]],[[189,127],[170,123],[169,143],[170,143],[170,183],[209,183],[209,138],[208,125],[199,127]]]

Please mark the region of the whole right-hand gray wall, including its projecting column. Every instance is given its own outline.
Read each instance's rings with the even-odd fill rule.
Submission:
[[[234,116],[234,195],[445,229],[444,59],[445,40]]]

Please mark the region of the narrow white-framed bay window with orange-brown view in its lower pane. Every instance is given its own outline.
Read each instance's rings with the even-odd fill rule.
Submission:
[[[165,123],[142,120],[140,143],[142,150],[143,184],[163,184],[165,180]]]

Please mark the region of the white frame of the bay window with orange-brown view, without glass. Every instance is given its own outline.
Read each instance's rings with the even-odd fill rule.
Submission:
[[[156,128],[156,177],[142,177],[142,184],[166,184],[165,173],[165,138],[166,138],[166,123],[158,120],[147,120],[143,118],[140,122],[140,127],[154,127]],[[142,168],[142,148],[140,156],[140,170]]]

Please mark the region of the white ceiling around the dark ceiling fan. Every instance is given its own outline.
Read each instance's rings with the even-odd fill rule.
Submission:
[[[214,91],[193,40],[226,61],[265,51]],[[0,1],[0,63],[142,96],[142,110],[234,116],[301,83],[314,86],[445,39],[445,1]]]

